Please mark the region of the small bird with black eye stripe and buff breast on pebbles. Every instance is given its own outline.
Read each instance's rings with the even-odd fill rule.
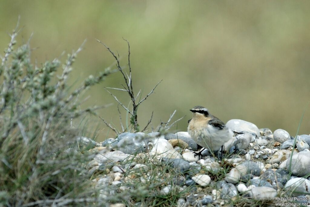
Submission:
[[[211,115],[207,108],[195,106],[190,111],[193,118],[188,120],[188,133],[191,138],[200,146],[208,149],[213,155],[214,151],[221,149],[223,155],[223,145],[233,137],[233,131],[225,126],[219,118]],[[201,155],[201,150],[196,155]]]

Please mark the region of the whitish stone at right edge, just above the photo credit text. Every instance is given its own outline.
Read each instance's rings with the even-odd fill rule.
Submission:
[[[284,190],[292,192],[293,195],[310,193],[310,181],[306,178],[293,178],[286,182]]]

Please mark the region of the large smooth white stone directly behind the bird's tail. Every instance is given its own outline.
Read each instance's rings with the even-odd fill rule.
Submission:
[[[226,123],[226,126],[235,132],[246,131],[249,133],[255,133],[257,137],[260,135],[259,128],[257,128],[255,124],[241,119],[231,119]]]

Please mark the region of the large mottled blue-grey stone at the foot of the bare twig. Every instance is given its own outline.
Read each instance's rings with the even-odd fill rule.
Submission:
[[[126,135],[121,135],[122,134],[117,137],[117,140],[120,140],[117,143],[119,151],[132,155],[147,150],[148,142],[144,140],[144,137],[141,134],[126,133]]]

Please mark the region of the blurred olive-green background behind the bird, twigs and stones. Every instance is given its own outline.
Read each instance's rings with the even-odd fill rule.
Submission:
[[[118,51],[126,66],[124,37],[131,44],[135,92],[146,95],[163,79],[139,108],[141,127],[152,111],[156,128],[176,109],[175,119],[186,117],[171,131],[186,131],[189,109],[201,105],[224,122],[244,119],[295,136],[310,100],[309,8],[310,1],[0,1],[0,48],[7,47],[19,15],[20,40],[34,34],[38,63],[87,38],[70,78],[80,83],[114,64],[95,38]],[[122,83],[121,74],[113,74],[88,92],[86,105],[115,103],[103,87]],[[126,94],[115,94],[128,105]],[[116,106],[99,113],[119,127]],[[299,134],[310,133],[309,107]],[[88,130],[98,125],[98,140],[115,136],[97,117]]]

